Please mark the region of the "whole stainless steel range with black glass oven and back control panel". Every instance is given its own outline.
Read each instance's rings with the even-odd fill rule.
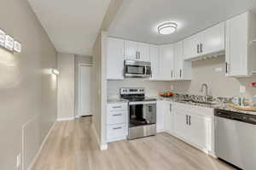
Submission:
[[[156,133],[156,99],[145,97],[144,88],[120,88],[120,98],[129,100],[128,139]]]

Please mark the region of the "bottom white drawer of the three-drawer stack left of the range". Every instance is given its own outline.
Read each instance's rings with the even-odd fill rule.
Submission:
[[[107,138],[108,142],[125,138],[126,124],[108,125]]]

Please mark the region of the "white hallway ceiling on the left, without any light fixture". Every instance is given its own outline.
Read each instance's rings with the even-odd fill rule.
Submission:
[[[91,55],[110,0],[27,0],[58,52]]]

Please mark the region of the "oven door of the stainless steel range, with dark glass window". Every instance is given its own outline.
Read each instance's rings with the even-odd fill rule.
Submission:
[[[129,103],[129,139],[137,139],[156,133],[156,103]]]

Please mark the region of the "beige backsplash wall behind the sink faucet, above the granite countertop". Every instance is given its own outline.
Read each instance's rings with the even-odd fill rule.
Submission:
[[[256,76],[249,78],[225,77],[224,56],[213,59],[205,59],[193,62],[193,80],[190,82],[170,82],[174,85],[174,91],[185,94],[201,94],[201,84],[207,83],[210,94],[215,97],[232,97],[256,95],[256,88],[249,86],[250,82],[256,81]],[[215,71],[222,68],[222,71]],[[240,94],[240,85],[246,86],[247,93]]]

